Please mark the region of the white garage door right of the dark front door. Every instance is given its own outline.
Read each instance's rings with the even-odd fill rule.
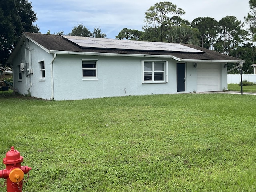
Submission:
[[[197,91],[219,91],[219,64],[197,64]]]

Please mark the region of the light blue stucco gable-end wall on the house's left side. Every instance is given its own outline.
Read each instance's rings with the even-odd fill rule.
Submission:
[[[51,97],[51,71],[50,62],[52,54],[48,54],[42,48],[33,42],[26,40],[16,55],[12,66],[14,69],[14,88],[20,94],[28,94],[32,97],[50,99]],[[40,64],[39,61],[45,62],[45,80],[40,80]],[[18,79],[18,66],[23,62],[25,64],[24,72],[21,72],[22,79]],[[32,69],[32,73],[28,70]],[[31,72],[31,71],[30,71]]]

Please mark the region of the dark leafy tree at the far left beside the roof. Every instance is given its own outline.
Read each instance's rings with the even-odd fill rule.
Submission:
[[[6,65],[22,32],[39,32],[38,26],[33,25],[36,20],[28,0],[0,1],[0,66]]]

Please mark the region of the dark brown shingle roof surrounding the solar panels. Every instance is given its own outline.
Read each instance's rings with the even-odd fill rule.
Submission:
[[[24,33],[26,37],[31,38],[38,44],[50,51],[65,51],[65,52],[92,52],[92,53],[115,53],[115,54],[142,54],[142,55],[172,55],[179,59],[194,59],[194,60],[228,60],[238,61],[241,59],[232,56],[220,54],[192,44],[182,44],[184,46],[201,50],[205,53],[194,52],[174,52],[174,51],[157,51],[157,50],[122,50],[122,49],[104,49],[104,48],[80,48],[72,42],[66,40],[60,35]]]

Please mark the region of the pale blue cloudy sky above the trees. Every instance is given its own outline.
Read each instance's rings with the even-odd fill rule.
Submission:
[[[68,34],[78,24],[88,30],[100,28],[107,38],[114,39],[123,28],[142,31],[145,12],[165,0],[29,0],[37,16],[40,32]],[[198,17],[212,17],[217,21],[236,16],[245,22],[249,0],[172,0],[186,13],[181,17],[192,22]]]

